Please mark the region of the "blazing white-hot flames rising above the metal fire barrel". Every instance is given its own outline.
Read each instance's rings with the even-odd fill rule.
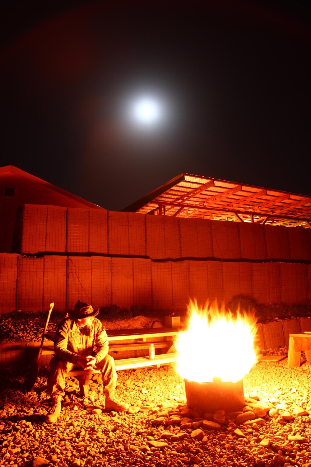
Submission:
[[[179,354],[177,372],[183,379],[209,382],[214,378],[237,382],[256,363],[254,314],[233,315],[217,303],[199,308],[188,305],[189,325],[175,342]]]

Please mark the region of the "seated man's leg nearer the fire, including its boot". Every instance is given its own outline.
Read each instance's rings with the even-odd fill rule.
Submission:
[[[114,360],[110,355],[106,355],[102,361],[97,363],[97,369],[102,372],[102,380],[105,393],[105,410],[115,410],[122,412],[129,408],[127,403],[118,401],[115,397],[115,388],[117,386],[117,371]]]

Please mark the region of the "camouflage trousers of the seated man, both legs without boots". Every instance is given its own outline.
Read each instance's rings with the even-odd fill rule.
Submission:
[[[50,371],[47,381],[46,392],[51,396],[64,396],[65,394],[65,377],[73,368],[81,368],[78,363],[70,363],[69,361],[61,360],[53,357],[50,360]],[[95,367],[102,373],[104,389],[113,391],[117,386],[117,371],[114,360],[110,355],[106,355],[102,361],[99,361]]]

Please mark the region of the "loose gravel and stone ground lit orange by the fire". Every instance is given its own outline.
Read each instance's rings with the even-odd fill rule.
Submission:
[[[23,369],[6,368],[0,380],[0,465],[307,466],[311,365],[288,369],[286,363],[252,368],[243,380],[247,407],[239,416],[189,410],[184,382],[172,367],[118,372],[117,396],[130,404],[129,413],[120,414],[101,410],[97,381],[83,400],[76,381],[67,378],[55,425],[44,422],[48,400],[37,400],[47,368],[36,392],[28,394],[20,390]],[[241,417],[251,419],[248,425]]]

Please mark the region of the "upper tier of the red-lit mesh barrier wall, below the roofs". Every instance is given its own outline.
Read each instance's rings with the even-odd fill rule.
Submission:
[[[21,253],[311,262],[311,229],[25,205]]]

